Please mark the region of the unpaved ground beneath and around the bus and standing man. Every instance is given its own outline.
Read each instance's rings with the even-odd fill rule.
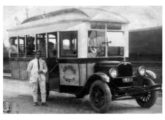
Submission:
[[[74,95],[51,91],[48,106],[33,106],[28,81],[4,78],[4,101],[11,103],[11,113],[95,113],[88,96],[76,99]],[[134,100],[113,101],[108,113],[162,113],[162,97],[150,109],[140,108]]]

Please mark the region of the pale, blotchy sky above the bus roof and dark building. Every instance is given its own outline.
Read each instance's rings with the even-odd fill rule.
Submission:
[[[4,6],[3,7],[3,40],[9,46],[7,29],[15,27],[28,17],[55,11],[63,8],[80,6]],[[89,6],[88,6],[89,7]],[[93,7],[93,6],[91,6]],[[129,29],[143,29],[162,26],[161,6],[95,6],[115,12],[130,21]],[[28,12],[27,12],[28,11]]]

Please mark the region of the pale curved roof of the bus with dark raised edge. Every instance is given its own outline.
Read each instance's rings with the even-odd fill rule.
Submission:
[[[8,32],[9,36],[17,36],[72,30],[82,22],[129,23],[126,18],[100,8],[68,8],[27,18]]]

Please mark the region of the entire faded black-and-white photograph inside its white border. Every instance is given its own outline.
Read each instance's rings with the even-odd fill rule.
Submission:
[[[162,114],[163,6],[3,6],[3,114]]]

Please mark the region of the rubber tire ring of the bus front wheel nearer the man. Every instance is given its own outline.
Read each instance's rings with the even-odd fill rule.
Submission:
[[[96,86],[99,87],[99,89],[101,89],[102,92],[104,92],[104,98],[105,98],[104,101],[105,102],[104,102],[103,106],[101,106],[100,108],[98,108],[94,104],[94,101],[92,98],[92,92],[94,92],[93,88]],[[90,87],[89,95],[90,95],[90,104],[96,112],[105,113],[109,110],[109,106],[110,106],[110,103],[112,100],[112,94],[111,94],[111,90],[110,90],[109,86],[107,85],[107,83],[105,83],[101,80],[96,80]]]

